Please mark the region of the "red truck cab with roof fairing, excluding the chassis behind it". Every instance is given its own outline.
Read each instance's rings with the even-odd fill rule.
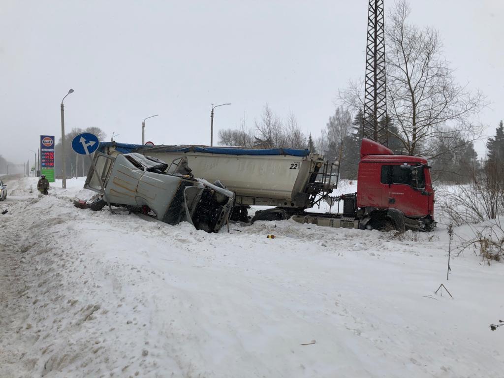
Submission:
[[[427,160],[395,155],[389,148],[362,139],[357,179],[357,207],[368,211],[395,209],[408,221],[435,226],[434,191]],[[402,215],[401,215],[402,216]]]

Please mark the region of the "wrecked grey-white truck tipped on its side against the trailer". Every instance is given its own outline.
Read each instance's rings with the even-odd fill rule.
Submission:
[[[234,194],[218,180],[194,178],[186,164],[169,165],[138,153],[94,157],[84,187],[99,194],[95,201],[77,201],[81,208],[99,210],[107,202],[132,212],[153,213],[158,220],[188,221],[197,229],[217,232],[228,220]]]

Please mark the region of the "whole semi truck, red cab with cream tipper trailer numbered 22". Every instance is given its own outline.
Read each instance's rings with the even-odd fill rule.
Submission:
[[[363,139],[357,192],[334,196],[339,162],[295,149],[247,149],[207,146],[144,146],[103,142],[102,153],[115,156],[137,152],[177,163],[187,162],[193,174],[221,180],[235,195],[232,220],[247,220],[247,208],[259,210],[251,219],[288,219],[329,227],[429,231],[435,227],[434,191],[429,165],[421,157],[396,155],[389,148]],[[312,213],[307,209],[342,202],[343,212]]]

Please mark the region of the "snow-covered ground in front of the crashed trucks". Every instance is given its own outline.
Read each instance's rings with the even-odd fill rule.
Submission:
[[[504,376],[504,265],[467,250],[447,282],[443,225],[418,241],[293,221],[208,234],[77,209],[82,180],[42,198],[34,178],[8,185],[2,378]]]

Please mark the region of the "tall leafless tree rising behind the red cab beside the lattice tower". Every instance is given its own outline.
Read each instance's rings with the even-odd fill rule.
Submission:
[[[455,81],[454,70],[443,56],[437,30],[409,24],[409,5],[398,1],[386,23],[388,115],[396,130],[390,130],[410,155],[429,156],[433,138],[462,135],[464,141],[478,139],[482,125],[471,123],[486,106],[484,95],[472,93]],[[351,81],[339,91],[339,100],[353,111],[362,110],[362,81]]]

